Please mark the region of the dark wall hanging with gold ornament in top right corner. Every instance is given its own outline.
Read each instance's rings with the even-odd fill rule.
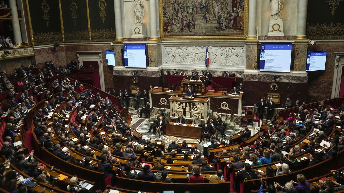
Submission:
[[[344,39],[344,1],[308,1],[306,34],[309,39]]]

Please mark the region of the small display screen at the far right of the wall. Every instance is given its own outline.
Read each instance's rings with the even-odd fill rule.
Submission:
[[[325,70],[326,51],[307,53],[306,71]]]

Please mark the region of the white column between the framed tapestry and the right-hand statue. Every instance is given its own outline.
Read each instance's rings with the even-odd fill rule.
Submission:
[[[248,1],[248,36],[246,40],[257,41],[256,29],[257,0]]]

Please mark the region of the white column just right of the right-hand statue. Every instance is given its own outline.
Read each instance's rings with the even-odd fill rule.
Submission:
[[[298,17],[295,40],[307,40],[306,37],[306,19],[307,19],[307,2],[308,0],[298,1]]]

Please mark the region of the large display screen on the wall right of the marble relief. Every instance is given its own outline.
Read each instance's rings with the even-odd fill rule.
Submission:
[[[261,44],[260,71],[290,72],[291,43],[290,44]]]

